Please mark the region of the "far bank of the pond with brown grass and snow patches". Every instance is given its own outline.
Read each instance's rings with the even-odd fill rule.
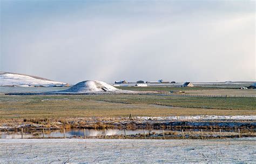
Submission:
[[[0,122],[0,131],[40,130],[40,129],[251,129],[255,120],[173,120],[168,118],[78,118],[78,119],[24,119]]]

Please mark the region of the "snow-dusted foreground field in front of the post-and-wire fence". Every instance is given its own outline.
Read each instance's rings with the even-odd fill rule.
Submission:
[[[256,139],[0,139],[0,163],[254,163]]]

